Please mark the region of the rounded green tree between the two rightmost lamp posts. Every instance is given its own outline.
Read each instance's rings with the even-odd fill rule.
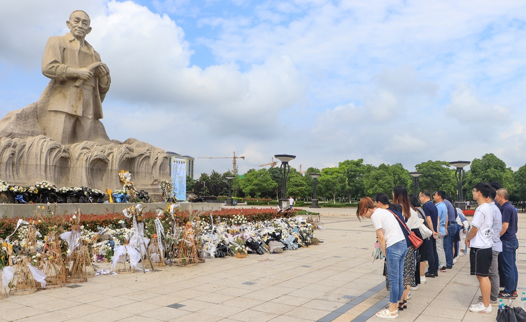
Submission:
[[[422,172],[420,177],[418,177],[419,191],[428,190],[433,193],[437,190],[444,190],[447,194],[451,194],[453,198],[456,198],[457,181],[454,177],[455,171],[449,167],[449,162],[429,160],[415,165],[414,168],[418,172]]]

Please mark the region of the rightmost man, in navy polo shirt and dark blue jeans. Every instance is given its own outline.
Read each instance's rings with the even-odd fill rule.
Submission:
[[[515,207],[510,203],[510,193],[507,189],[497,190],[497,203],[501,206],[502,230],[500,240],[502,241],[502,251],[499,254],[499,264],[504,275],[504,290],[499,294],[499,298],[515,298],[517,296],[517,282],[519,272],[517,270],[517,240],[518,217]]]

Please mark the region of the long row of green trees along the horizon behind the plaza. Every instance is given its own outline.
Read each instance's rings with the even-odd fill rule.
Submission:
[[[453,199],[457,197],[457,180],[455,169],[446,161],[426,161],[414,166],[418,172],[419,190],[444,190]],[[197,180],[187,178],[187,190],[201,194],[201,196],[225,196],[228,188],[221,180],[225,175],[231,175],[231,171],[211,174],[201,173]],[[409,170],[401,163],[385,164],[376,167],[372,164],[363,163],[363,159],[346,160],[340,162],[338,167],[332,168],[308,168],[306,173],[299,173],[290,168],[287,180],[287,194],[299,199],[308,200],[313,194],[313,179],[309,173],[320,173],[318,178],[318,199],[328,199],[333,202],[351,202],[361,197],[373,197],[380,192],[391,195],[393,187],[397,185],[406,186],[409,192],[414,191],[413,177]],[[280,168],[250,169],[243,175],[238,175],[232,180],[232,195],[244,198],[272,198],[277,199],[281,195],[281,172]],[[517,171],[506,167],[504,161],[497,158],[493,153],[483,155],[480,159],[474,159],[470,169],[466,171],[463,181],[463,195],[471,200],[471,189],[474,184],[485,181],[497,181],[510,192],[510,200],[526,200],[526,164]]]

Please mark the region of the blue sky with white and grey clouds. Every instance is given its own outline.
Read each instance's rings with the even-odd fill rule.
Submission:
[[[18,0],[0,2],[0,117],[36,102],[49,36],[86,11],[112,76],[111,139],[196,158],[195,177],[292,154],[526,161],[526,3]]]

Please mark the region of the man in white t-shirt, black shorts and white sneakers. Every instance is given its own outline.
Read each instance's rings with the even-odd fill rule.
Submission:
[[[466,245],[471,248],[471,275],[477,276],[482,293],[482,301],[472,305],[469,310],[478,313],[491,313],[491,282],[488,276],[493,257],[493,211],[488,204],[488,197],[492,196],[492,192],[493,188],[486,182],[479,182],[473,187],[473,199],[479,207],[473,214],[471,230],[466,237]]]

